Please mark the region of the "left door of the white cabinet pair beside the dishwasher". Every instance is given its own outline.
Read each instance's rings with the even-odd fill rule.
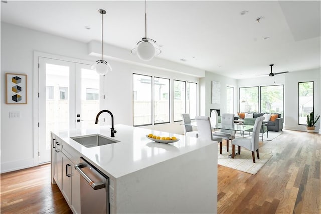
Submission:
[[[68,204],[71,204],[71,173],[72,173],[72,163],[71,161],[62,153],[62,191],[65,195],[65,199]]]

